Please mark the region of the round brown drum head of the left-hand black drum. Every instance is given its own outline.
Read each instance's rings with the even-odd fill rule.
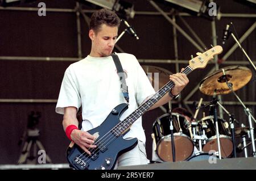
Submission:
[[[185,161],[194,150],[191,138],[185,134],[174,133],[175,161]],[[166,162],[173,162],[171,135],[165,136],[158,142],[157,154],[160,159]]]

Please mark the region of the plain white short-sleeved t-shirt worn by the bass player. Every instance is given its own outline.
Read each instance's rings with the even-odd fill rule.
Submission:
[[[129,108],[120,117],[120,120],[123,120],[136,110],[144,99],[155,94],[155,90],[135,56],[127,53],[117,55],[127,75],[126,84],[129,91]],[[88,131],[98,127],[113,108],[121,103],[126,101],[112,56],[87,56],[71,64],[65,71],[56,112],[64,114],[64,107],[72,106],[78,110],[82,106],[82,130]],[[124,136],[130,137],[146,141],[141,117]]]

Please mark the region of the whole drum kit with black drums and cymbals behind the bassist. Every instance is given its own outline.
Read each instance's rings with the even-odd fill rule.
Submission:
[[[159,86],[170,81],[169,75],[172,73],[168,70],[156,66],[142,66],[142,68],[146,73],[159,74],[157,77]],[[194,116],[187,117],[181,113],[171,112],[170,108],[169,113],[158,117],[152,125],[152,138],[160,160],[175,162],[205,160],[212,156],[217,159],[236,157],[235,137],[243,138],[241,150],[246,150],[250,145],[246,145],[245,142],[247,134],[251,134],[251,144],[254,145],[253,128],[244,127],[243,124],[241,128],[234,128],[234,122],[239,122],[216,99],[216,95],[234,93],[241,89],[251,77],[250,69],[243,66],[228,66],[217,70],[200,82],[200,91],[212,96],[213,100],[201,106],[203,99],[200,99]],[[154,82],[154,80],[156,81],[156,78],[151,77],[150,81]],[[229,122],[217,116],[217,104],[228,113]],[[209,116],[196,119],[200,108],[205,107],[209,107]],[[252,118],[254,119],[253,116]],[[247,157],[247,153],[245,155]]]

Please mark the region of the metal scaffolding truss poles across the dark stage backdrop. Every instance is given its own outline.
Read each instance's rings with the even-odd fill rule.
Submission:
[[[182,16],[191,16],[187,13],[179,12],[178,14],[174,15],[172,12],[164,12],[154,1],[148,1],[157,11],[136,11],[136,15],[161,15],[164,16],[168,20],[170,24],[173,26],[173,33],[174,33],[174,52],[175,52],[175,60],[160,60],[160,59],[139,59],[138,61],[140,63],[158,63],[158,64],[175,64],[176,72],[179,71],[179,64],[188,64],[188,60],[179,60],[178,52],[177,52],[177,34],[176,32],[179,31],[188,41],[191,42],[192,45],[194,45],[200,52],[204,52],[205,44],[203,41],[199,38],[199,36],[196,35],[196,32],[192,30],[191,27],[185,22],[185,20],[182,18]],[[0,7],[0,11],[38,11],[38,8],[33,7]],[[82,50],[81,50],[81,22],[80,22],[80,15],[84,18],[85,23],[89,23],[89,17],[86,16],[86,13],[92,13],[96,10],[82,10],[80,7],[80,3],[76,2],[76,6],[74,9],[55,9],[55,8],[47,8],[47,12],[63,12],[63,13],[76,13],[76,24],[77,24],[77,57],[25,57],[25,56],[0,56],[0,60],[29,60],[29,61],[79,61],[82,58]],[[170,16],[172,18],[170,18]],[[185,24],[187,29],[192,33],[192,35],[195,37],[195,39],[199,42],[199,44],[196,43],[190,37],[182,28],[180,28],[179,25],[176,24],[176,16],[179,16],[181,19],[181,22]],[[220,17],[225,18],[256,18],[256,14],[220,14]],[[212,37],[213,37],[213,45],[217,45],[217,39],[216,39],[216,27],[215,27],[215,21],[212,21]],[[240,38],[240,41],[244,41],[247,36],[250,35],[251,32],[255,30],[256,22],[242,35]],[[222,58],[223,60],[226,60],[230,54],[234,52],[234,50],[238,47],[237,44],[234,44],[232,48],[224,55]],[[115,48],[119,50],[119,52],[124,52],[121,47],[119,47],[117,44],[115,45]],[[253,62],[256,64],[256,62]],[[209,71],[209,73],[214,72],[218,69],[217,64],[217,56],[214,57],[213,62],[209,62],[208,64],[214,64],[214,68]],[[247,61],[224,61],[222,62],[224,65],[249,65],[249,62]],[[181,103],[184,104],[184,106],[191,111],[188,105],[193,104],[193,100],[188,100],[191,98],[193,94],[199,89],[199,84],[196,85],[192,91],[185,96],[185,98],[181,101],[181,98],[179,98],[177,101],[172,101],[172,103],[177,103],[179,106],[181,106]],[[221,97],[220,97],[221,99]],[[56,99],[0,99],[1,103],[56,103]],[[197,102],[197,100],[196,100]],[[240,105],[239,102],[223,102],[226,105]],[[244,102],[245,105],[250,106],[256,106],[256,102]],[[162,108],[163,111],[164,108]],[[192,112],[192,111],[191,111]],[[220,110],[220,114],[222,115],[222,110]]]

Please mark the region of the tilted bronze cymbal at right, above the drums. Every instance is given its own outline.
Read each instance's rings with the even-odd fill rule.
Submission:
[[[222,69],[224,69],[225,75]],[[199,89],[203,94],[213,95],[214,91],[216,91],[216,95],[229,94],[232,91],[226,85],[225,77],[229,83],[232,83],[233,90],[236,91],[245,86],[253,75],[251,70],[245,66],[227,66],[222,69],[208,75],[200,82]]]

